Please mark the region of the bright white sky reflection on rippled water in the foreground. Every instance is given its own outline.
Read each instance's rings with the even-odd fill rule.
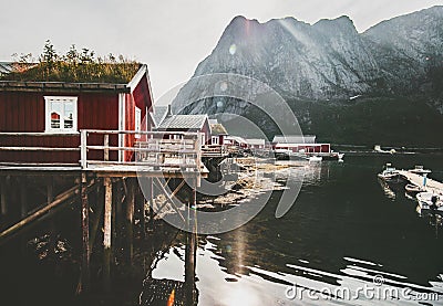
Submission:
[[[343,257],[343,267],[338,273],[318,270],[306,264],[287,263],[285,272],[237,262],[228,270],[226,258],[216,254],[224,252],[220,241],[203,240],[198,250],[197,288],[198,305],[420,305],[422,302],[436,305],[443,298],[442,276],[427,286],[409,282],[405,275],[383,271],[383,265],[363,260]],[[177,250],[177,249],[175,249]],[[178,247],[178,250],[184,250]],[[231,251],[238,258],[240,247]],[[153,273],[154,278],[179,277],[176,273],[183,261],[173,249]],[[174,271],[174,272],[173,272]],[[289,271],[289,272],[287,272]],[[175,275],[168,275],[173,272]],[[290,293],[290,294],[288,294]],[[434,303],[436,304],[434,304]]]

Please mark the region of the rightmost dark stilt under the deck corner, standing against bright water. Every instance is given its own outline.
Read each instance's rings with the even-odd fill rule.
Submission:
[[[186,294],[186,305],[196,305],[197,293],[195,286],[195,263],[196,263],[196,211],[190,209],[192,205],[196,204],[196,181],[192,186],[192,191],[189,194],[188,210],[189,214],[187,218],[188,230],[190,232],[186,233],[186,253],[185,253],[185,294]],[[189,223],[192,222],[192,224]]]

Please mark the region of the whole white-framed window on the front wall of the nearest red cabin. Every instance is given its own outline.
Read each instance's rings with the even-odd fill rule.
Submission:
[[[76,131],[76,97],[45,96],[45,131]]]

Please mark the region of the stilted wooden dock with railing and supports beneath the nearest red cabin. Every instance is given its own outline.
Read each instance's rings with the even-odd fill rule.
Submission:
[[[63,207],[76,208],[82,247],[78,294],[90,289],[93,250],[104,254],[101,274],[110,292],[116,250],[124,247],[133,262],[134,214],[141,215],[137,226],[146,239],[153,225],[145,217],[152,223],[162,213],[165,204],[156,203],[162,194],[188,229],[186,298],[195,300],[197,240],[190,207],[202,179],[209,175],[203,160],[225,158],[224,151],[204,151],[199,133],[87,129],[65,136],[69,141],[59,147],[48,140],[54,137],[59,136],[0,133],[0,245]],[[144,189],[137,179],[143,179]]]

